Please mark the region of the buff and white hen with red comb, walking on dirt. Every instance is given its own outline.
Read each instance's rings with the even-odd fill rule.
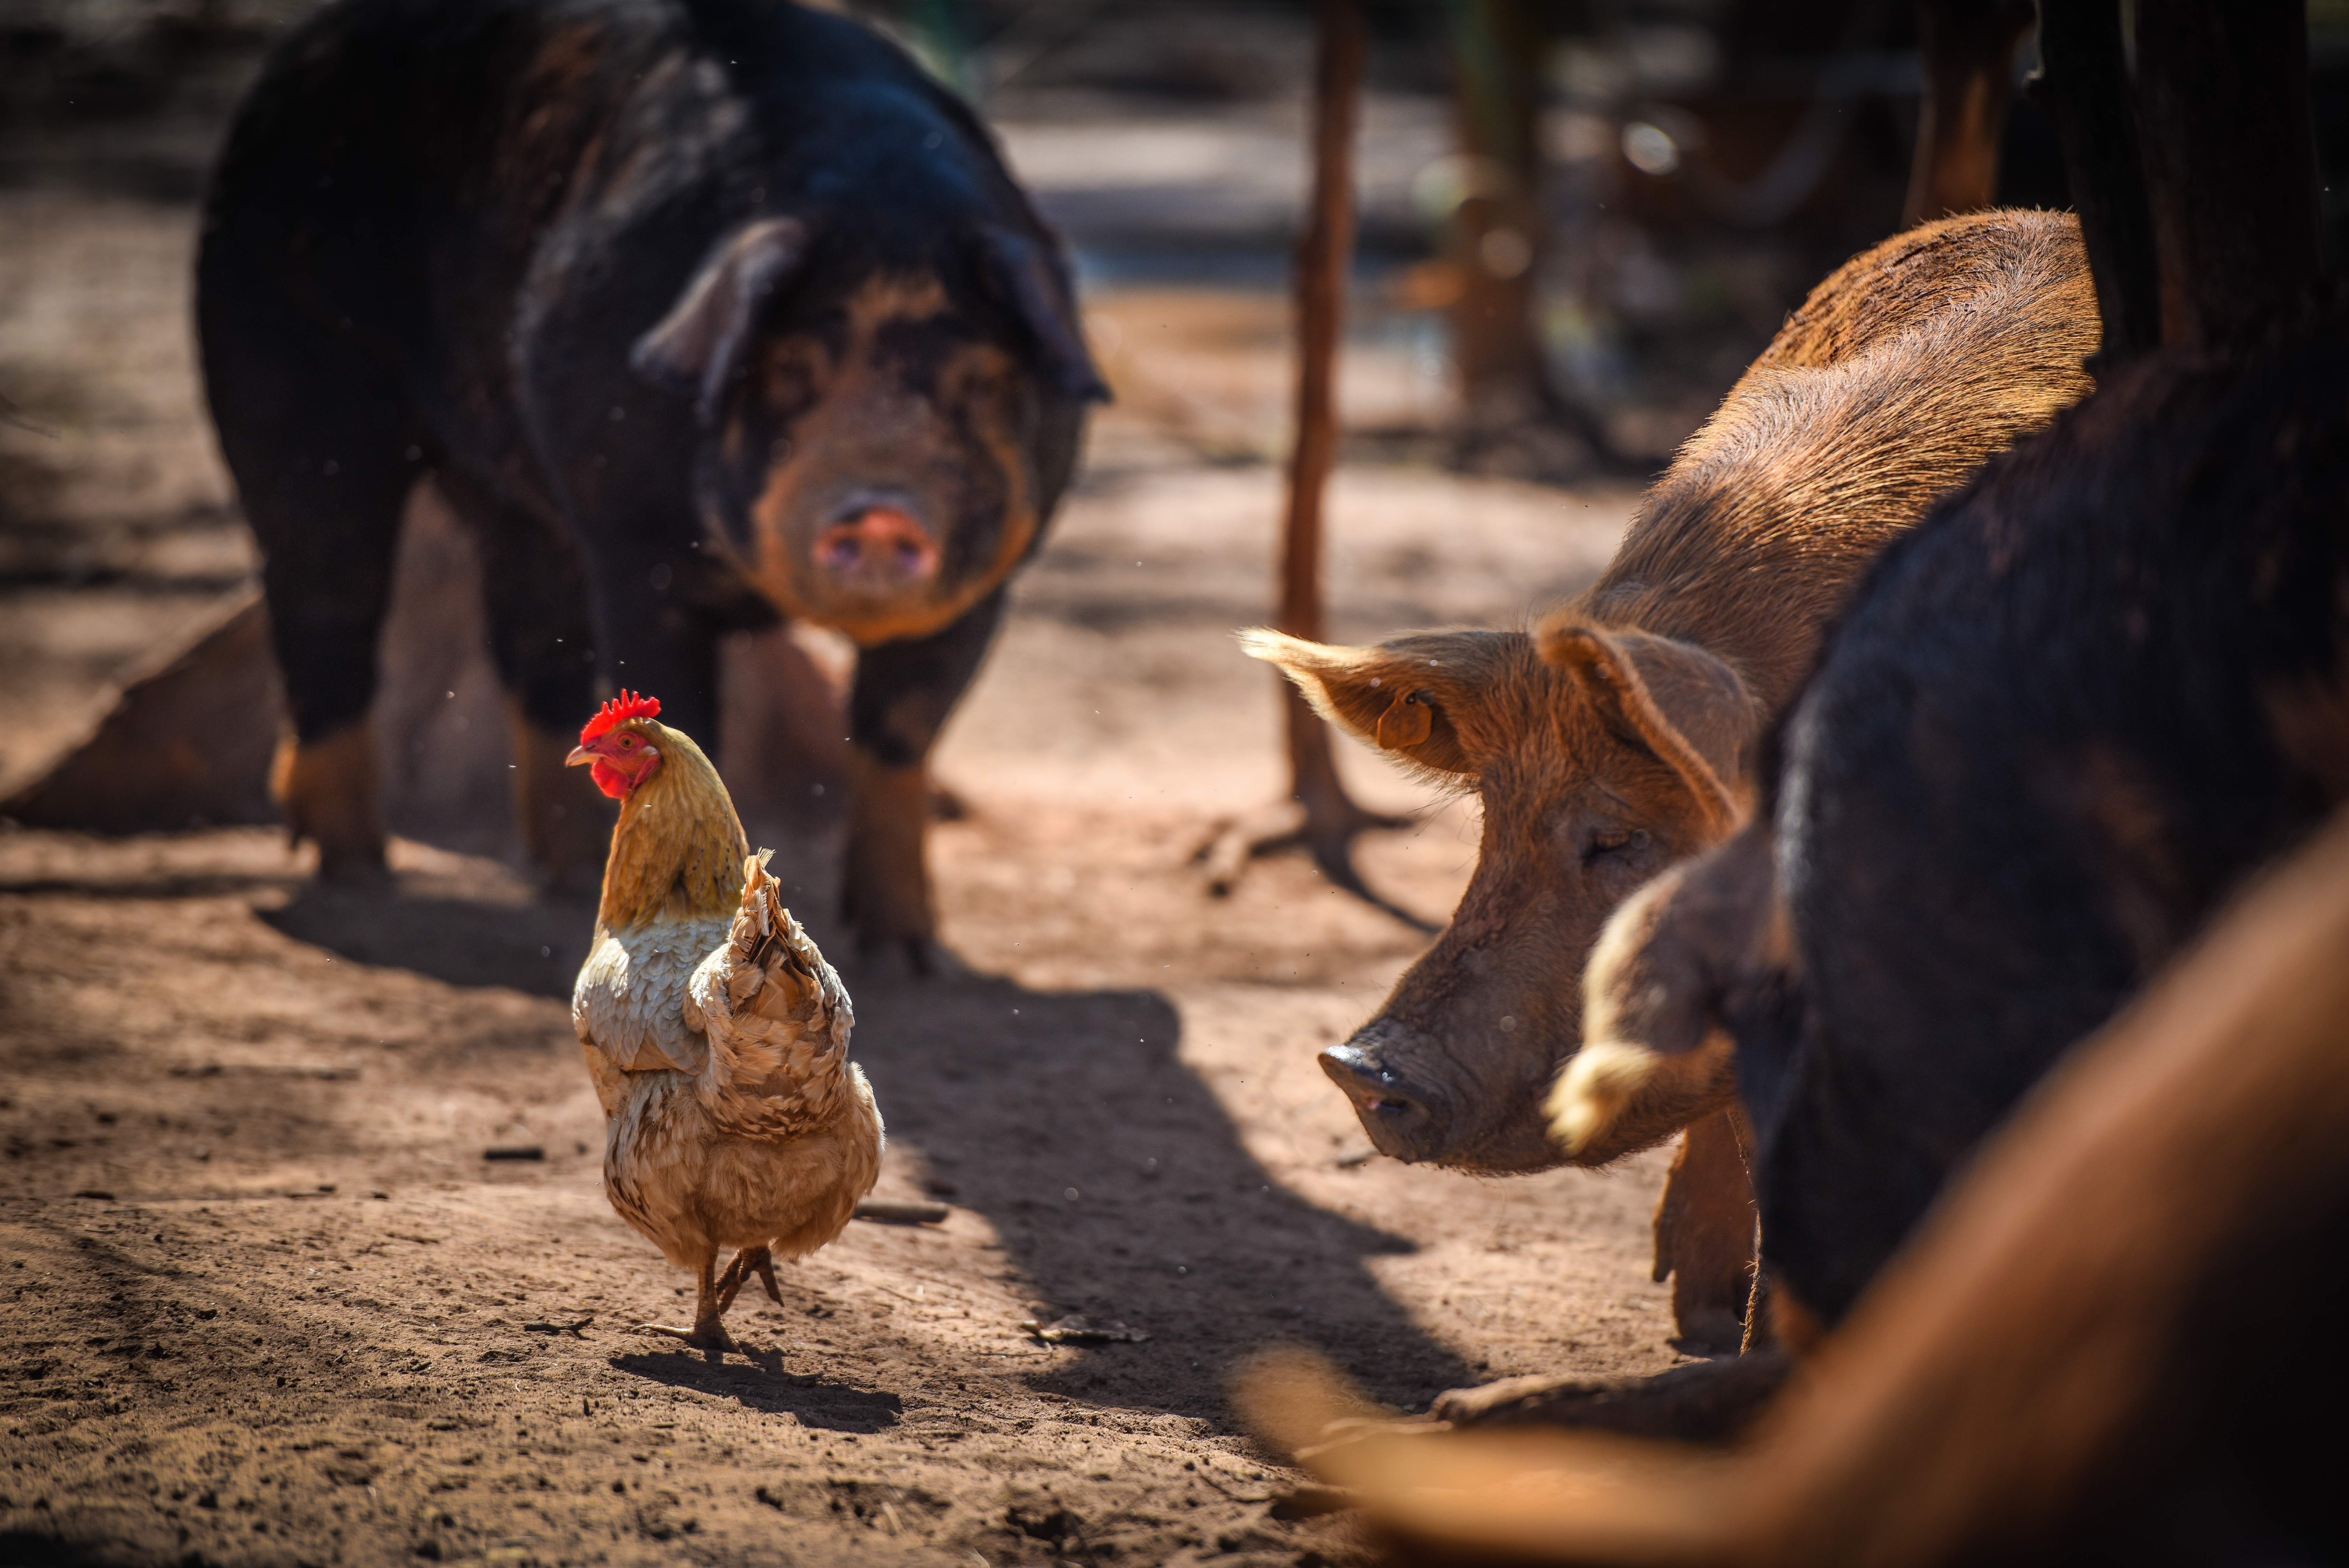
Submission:
[[[571,1023],[604,1103],[604,1194],[700,1286],[693,1328],[646,1328],[716,1359],[742,1284],[780,1302],[773,1258],[824,1246],[871,1192],[881,1112],[848,1060],[841,978],[709,757],[658,712],[622,691],[568,757],[620,802]]]

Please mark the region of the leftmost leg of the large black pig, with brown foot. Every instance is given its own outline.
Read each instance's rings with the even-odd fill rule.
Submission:
[[[204,280],[207,393],[261,541],[270,642],[294,733],[270,788],[329,879],[383,875],[373,733],[376,635],[399,512],[420,473],[397,378],[345,334],[261,289]],[[413,454],[413,456],[411,456]]]

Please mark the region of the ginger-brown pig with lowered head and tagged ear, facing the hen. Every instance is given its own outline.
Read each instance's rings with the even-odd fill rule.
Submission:
[[[1553,618],[1555,658],[1525,632],[1369,649],[1247,637],[1332,722],[1485,809],[1452,926],[1377,1018],[1322,1051],[1379,1150],[1475,1173],[1564,1159],[1541,1103],[1581,1046],[1600,924],[1736,827],[1755,743],[1860,574],[1936,496],[2079,400],[2095,346],[2069,216],[1907,230],[1813,289],[1731,388],[1607,574]],[[1677,1274],[1682,1333],[1712,1345],[1738,1340],[1752,1260],[1738,1143],[1729,1112],[1696,1121],[1656,1215],[1656,1276]]]

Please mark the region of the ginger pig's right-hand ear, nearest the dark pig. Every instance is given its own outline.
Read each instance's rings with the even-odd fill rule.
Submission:
[[[1571,621],[1541,628],[1539,644],[1616,738],[1680,773],[1708,839],[1736,827],[1743,811],[1727,778],[1738,776],[1736,757],[1755,722],[1745,684],[1729,665],[1687,642]]]

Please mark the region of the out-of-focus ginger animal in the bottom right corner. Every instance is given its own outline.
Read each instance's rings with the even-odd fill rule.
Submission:
[[[1983,1145],[1736,1450],[1381,1432],[1294,1356],[1238,1403],[1384,1563],[2340,1563],[2349,1366],[2260,1352],[2349,1291],[2344,952],[2335,816]]]

